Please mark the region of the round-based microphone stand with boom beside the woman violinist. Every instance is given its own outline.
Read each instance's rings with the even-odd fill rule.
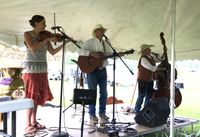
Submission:
[[[64,80],[64,70],[65,70],[65,39],[70,40],[74,43],[78,48],[81,48],[74,40],[72,40],[69,36],[67,36],[64,32],[58,28],[58,31],[62,34],[63,41],[63,49],[62,49],[62,70],[61,70],[61,89],[60,89],[60,112],[59,112],[59,130],[54,132],[51,137],[69,137],[67,132],[61,131],[61,118],[62,118],[62,94],[63,94],[63,80]]]

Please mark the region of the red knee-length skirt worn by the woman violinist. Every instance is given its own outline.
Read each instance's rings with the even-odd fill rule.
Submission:
[[[46,101],[53,99],[47,73],[23,73],[22,79],[25,84],[25,97],[33,99],[36,105],[44,105]]]

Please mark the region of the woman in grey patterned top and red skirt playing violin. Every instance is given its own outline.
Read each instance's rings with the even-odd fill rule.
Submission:
[[[46,101],[51,101],[53,95],[49,88],[47,73],[47,51],[54,55],[60,51],[63,44],[53,48],[51,42],[58,41],[54,35],[45,36],[46,21],[41,15],[34,15],[29,20],[32,30],[24,33],[26,44],[26,59],[22,78],[25,83],[25,97],[34,101],[34,107],[27,111],[26,133],[36,132],[38,129],[45,128],[37,122],[38,105],[44,105]],[[48,31],[46,31],[48,32]],[[67,41],[69,42],[69,41]]]

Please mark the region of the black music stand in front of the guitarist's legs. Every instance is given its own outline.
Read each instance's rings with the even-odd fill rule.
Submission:
[[[85,105],[96,104],[97,92],[93,89],[74,89],[73,103],[83,105],[82,122],[81,122],[81,137],[83,137],[83,126],[85,117]]]

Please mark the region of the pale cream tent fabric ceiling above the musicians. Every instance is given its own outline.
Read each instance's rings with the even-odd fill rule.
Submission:
[[[23,47],[23,33],[32,29],[28,20],[35,14],[45,16],[47,30],[62,26],[77,41],[90,38],[92,28],[103,24],[117,51],[134,49],[128,56],[138,58],[143,43],[156,45],[162,53],[159,34],[164,32],[168,56],[172,41],[172,0],[0,0],[0,43]],[[176,1],[176,60],[200,59],[200,1]],[[55,15],[55,16],[54,16]],[[52,31],[53,32],[53,31]],[[75,51],[74,44],[67,44]]]

